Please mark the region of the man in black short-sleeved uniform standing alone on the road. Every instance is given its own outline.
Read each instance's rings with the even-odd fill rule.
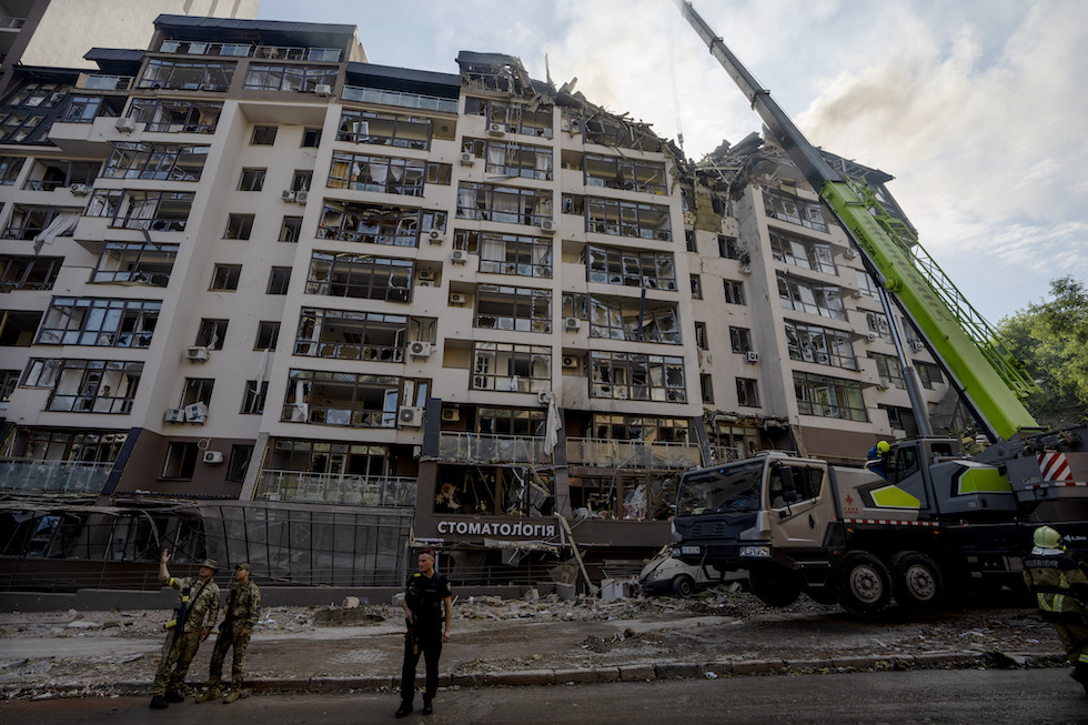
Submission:
[[[434,712],[434,694],[439,689],[439,656],[442,643],[450,641],[450,622],[453,620],[453,592],[445,576],[434,571],[434,550],[420,552],[420,571],[409,577],[404,591],[404,668],[401,672],[401,706],[394,717],[412,712],[415,696],[415,665],[420,654],[426,659],[426,689],[423,693],[424,715]]]

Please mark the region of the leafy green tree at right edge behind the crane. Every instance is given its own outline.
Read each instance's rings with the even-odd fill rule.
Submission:
[[[1050,281],[1050,296],[997,326],[1042,386],[1028,409],[1040,423],[1060,426],[1088,417],[1088,289],[1062,276]]]

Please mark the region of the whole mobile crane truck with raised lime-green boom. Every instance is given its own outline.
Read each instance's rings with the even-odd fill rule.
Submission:
[[[817,191],[860,252],[889,321],[893,305],[921,333],[993,442],[968,457],[928,424],[917,373],[893,329],[921,435],[896,442],[883,470],[784,452],[686,473],[672,520],[674,554],[723,572],[747,570],[770,605],[802,592],[856,614],[893,600],[926,611],[968,586],[1019,580],[1032,530],[1088,542],[1088,429],[1045,432],[1021,400],[1022,366],[864,182],[838,174],[695,12],[676,0],[711,54]]]

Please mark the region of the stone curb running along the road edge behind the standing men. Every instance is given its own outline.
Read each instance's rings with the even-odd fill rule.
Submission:
[[[994,667],[994,663],[1000,663]],[[989,667],[987,667],[989,665]],[[1065,653],[1016,652],[928,652],[916,655],[874,654],[832,657],[828,659],[723,659],[706,663],[671,662],[664,664],[633,663],[607,667],[575,667],[558,669],[511,669],[506,672],[443,673],[441,687],[516,687],[524,685],[574,685],[614,682],[648,682],[654,679],[717,679],[726,676],[835,674],[840,672],[906,671],[906,669],[969,669],[1065,667]],[[299,677],[269,678],[246,682],[254,693],[350,693],[359,691],[391,692],[399,686],[396,676]],[[199,689],[203,683],[189,683]],[[83,697],[89,695],[148,695],[150,682],[120,682],[111,685],[62,683],[29,687],[0,687],[0,699],[41,696]]]

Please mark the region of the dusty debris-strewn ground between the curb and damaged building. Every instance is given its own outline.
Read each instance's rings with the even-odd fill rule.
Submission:
[[[252,679],[392,677],[400,671],[400,607],[268,607],[250,645]],[[985,604],[985,606],[983,605]],[[169,611],[0,613],[0,687],[28,693],[100,693],[154,676]],[[211,641],[189,673],[202,682]],[[1016,601],[906,615],[896,608],[857,618],[802,597],[773,608],[738,585],[691,600],[636,596],[604,602],[555,595],[493,596],[454,602],[452,638],[442,671],[463,674],[631,664],[786,659],[809,663],[852,655],[989,653],[997,666],[1018,655],[1060,651],[1052,628]],[[228,664],[229,667],[229,664]]]

